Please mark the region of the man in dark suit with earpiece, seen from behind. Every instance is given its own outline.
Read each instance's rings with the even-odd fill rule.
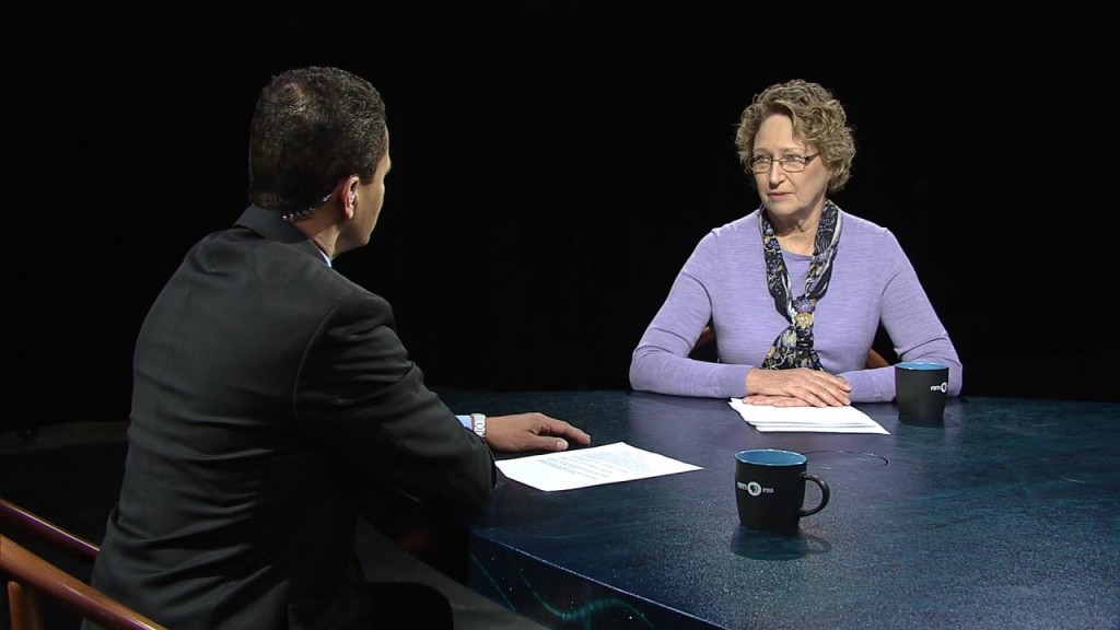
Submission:
[[[140,330],[94,586],[176,630],[379,627],[401,599],[362,577],[361,493],[475,510],[497,480],[491,448],[590,443],[542,414],[457,417],[389,303],[330,268],[370,241],[390,166],[365,80],[307,67],[261,92],[252,205],[190,249]]]

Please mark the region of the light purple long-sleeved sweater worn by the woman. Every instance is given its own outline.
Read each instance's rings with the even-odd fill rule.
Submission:
[[[812,257],[783,256],[796,297],[804,293]],[[709,321],[718,340],[716,363],[689,359]],[[851,386],[852,402],[895,398],[894,368],[865,368],[880,323],[900,360],[949,365],[949,395],[960,393],[956,350],[898,240],[844,212],[829,289],[813,315],[813,348],[824,370]],[[766,288],[756,210],[700,240],[634,350],[631,387],[679,396],[745,396],[747,371],[762,364],[787,325]]]

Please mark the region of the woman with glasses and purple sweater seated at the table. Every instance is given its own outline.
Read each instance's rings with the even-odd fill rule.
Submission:
[[[881,324],[900,360],[949,365],[958,396],[956,350],[898,241],[829,197],[856,155],[832,94],[772,85],[735,141],[762,205],[697,245],[634,350],[631,386],[776,406],[888,401],[894,368],[866,367]],[[719,361],[690,359],[709,325]]]

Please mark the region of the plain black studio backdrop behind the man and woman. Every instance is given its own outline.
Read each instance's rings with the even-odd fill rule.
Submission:
[[[1116,9],[478,4],[0,9],[3,428],[127,417],[148,305],[245,205],[260,87],[312,64],[389,105],[386,203],[336,265],[437,389],[628,387],[696,242],[757,204],[740,111],[803,77],[856,128],[836,200],[898,237],[965,393],[1120,399]]]

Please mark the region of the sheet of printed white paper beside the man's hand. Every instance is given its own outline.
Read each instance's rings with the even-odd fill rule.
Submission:
[[[701,470],[625,442],[501,460],[505,476],[538,490],[571,490]]]

